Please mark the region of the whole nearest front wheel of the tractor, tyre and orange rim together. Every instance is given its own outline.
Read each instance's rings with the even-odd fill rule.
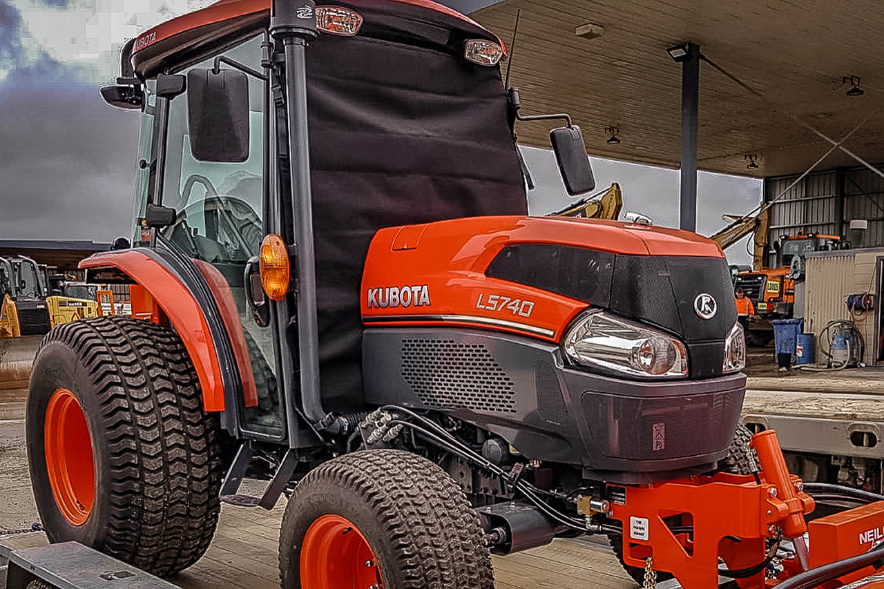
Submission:
[[[285,589],[493,589],[476,512],[425,458],[343,455],[295,487],[279,535]]]

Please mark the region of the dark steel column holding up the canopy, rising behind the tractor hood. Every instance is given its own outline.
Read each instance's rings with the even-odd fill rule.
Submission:
[[[700,92],[700,47],[688,43],[682,61],[682,187],[679,227],[697,231],[697,106]]]

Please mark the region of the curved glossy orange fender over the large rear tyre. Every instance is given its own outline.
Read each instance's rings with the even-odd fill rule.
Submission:
[[[148,291],[187,348],[200,379],[205,409],[225,409],[224,379],[205,311],[175,272],[138,249],[95,254],[80,262],[80,268],[90,271],[115,268]]]

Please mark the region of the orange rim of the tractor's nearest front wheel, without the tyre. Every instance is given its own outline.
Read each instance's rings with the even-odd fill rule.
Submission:
[[[325,515],[310,524],[301,547],[301,587],[383,589],[377,557],[346,517]]]

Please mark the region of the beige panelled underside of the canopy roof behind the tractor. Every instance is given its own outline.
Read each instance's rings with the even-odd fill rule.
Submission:
[[[526,113],[568,111],[592,155],[677,167],[681,157],[681,66],[667,47],[692,41],[703,53],[779,105],[751,96],[701,64],[699,167],[776,176],[803,172],[828,149],[789,120],[792,111],[835,139],[865,117],[846,145],[884,162],[884,44],[877,0],[507,0],[471,16],[505,42],[513,35],[512,79]],[[596,23],[604,33],[578,37]],[[504,65],[506,67],[506,65]],[[865,96],[837,88],[857,75]],[[606,143],[606,126],[620,128]],[[548,147],[549,126],[520,124],[519,139]],[[744,156],[758,153],[758,169]],[[853,165],[836,152],[823,164]]]

